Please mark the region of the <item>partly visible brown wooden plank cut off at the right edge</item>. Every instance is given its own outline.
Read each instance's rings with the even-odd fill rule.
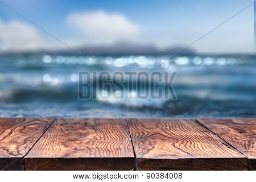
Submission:
[[[237,148],[256,168],[256,119],[197,119],[202,125]]]

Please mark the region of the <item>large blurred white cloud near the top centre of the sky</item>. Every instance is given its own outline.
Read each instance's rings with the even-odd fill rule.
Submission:
[[[105,11],[73,13],[68,22],[94,42],[130,40],[138,36],[140,27],[125,15]]]

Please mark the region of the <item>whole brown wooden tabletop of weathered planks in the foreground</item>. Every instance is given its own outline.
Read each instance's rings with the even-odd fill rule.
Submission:
[[[2,170],[254,170],[256,119],[0,118]]]

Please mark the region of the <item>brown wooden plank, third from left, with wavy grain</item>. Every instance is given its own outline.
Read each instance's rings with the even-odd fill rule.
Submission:
[[[141,170],[246,170],[245,156],[191,119],[132,119]]]

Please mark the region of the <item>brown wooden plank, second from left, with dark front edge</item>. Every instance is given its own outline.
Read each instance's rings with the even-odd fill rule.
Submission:
[[[27,170],[130,170],[134,153],[123,119],[57,119],[25,157]]]

